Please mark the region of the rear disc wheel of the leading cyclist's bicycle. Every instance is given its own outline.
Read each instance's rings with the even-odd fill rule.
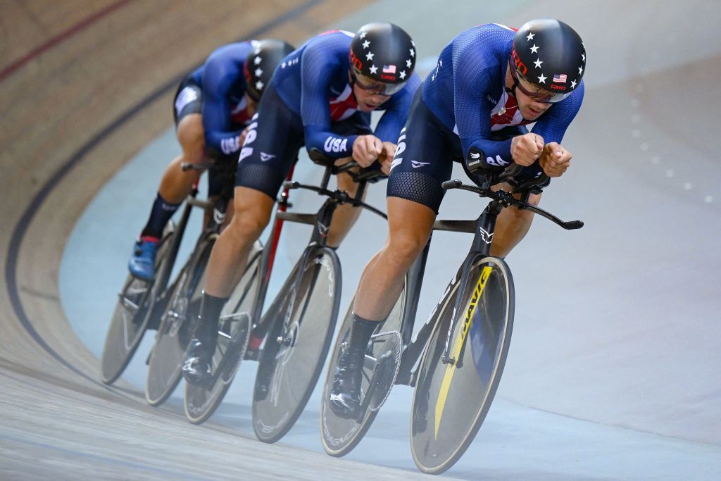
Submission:
[[[368,343],[361,384],[361,407],[366,407],[366,410],[357,420],[339,418],[327,403],[330,392],[333,389],[333,381],[335,380],[335,366],[337,366],[342,349],[350,341],[350,327],[353,325],[351,310],[353,301],[350,302],[351,308],[348,309],[348,314],[346,314],[345,319],[343,319],[335,340],[335,345],[333,346],[320,408],[321,443],[323,444],[323,449],[331,456],[345,456],[345,454],[348,454],[361,442],[363,436],[365,436],[368,429],[371,428],[373,420],[376,419],[379,408],[388,397],[388,394],[390,394],[393,384],[392,379],[378,383],[379,385],[374,387],[373,392],[370,393],[373,399],[366,400],[366,394],[369,393],[369,388],[371,387],[371,379],[373,379],[373,374],[376,373],[376,362],[373,362],[372,359],[389,359],[391,356],[396,356],[396,354],[399,356],[400,350],[402,349],[399,332],[401,330],[401,320],[404,312],[404,299],[405,289],[402,291],[396,305],[393,307],[385,322],[376,328],[375,334],[371,337],[371,342]],[[394,361],[399,361],[399,359],[394,358]],[[392,377],[394,378],[394,375],[397,374],[397,368],[397,362],[393,364],[387,363],[384,369],[384,377],[387,379],[387,376],[393,374]],[[390,373],[389,370],[392,369],[394,372]]]

